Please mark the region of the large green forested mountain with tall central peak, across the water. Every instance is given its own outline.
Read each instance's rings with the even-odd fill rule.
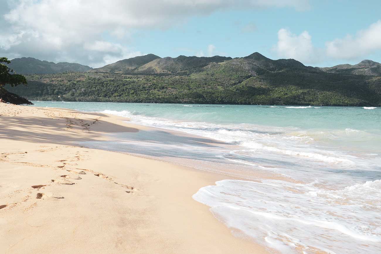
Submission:
[[[26,88],[9,91],[29,100],[54,101],[381,105],[379,76],[326,72],[259,53],[234,59],[156,58],[136,65],[119,72],[27,75]]]

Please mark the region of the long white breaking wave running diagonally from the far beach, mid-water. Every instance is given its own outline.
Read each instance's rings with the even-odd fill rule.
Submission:
[[[345,163],[347,166],[354,166],[357,158],[342,155],[335,151],[312,149],[305,147],[306,142],[313,141],[311,134],[303,134],[298,129],[274,128],[268,126],[237,126],[237,125],[216,125],[206,122],[184,122],[174,121],[165,118],[146,117],[139,113],[128,110],[114,111],[104,110],[101,113],[109,113],[122,117],[131,118],[134,123],[148,125],[152,127],[172,129],[189,134],[199,135],[211,139],[226,142],[227,144],[239,145],[243,149],[250,149],[250,153],[264,153],[265,156],[288,155],[294,157],[288,160],[300,160],[301,157],[311,160],[323,161],[326,163]],[[290,132],[291,131],[291,132]],[[294,133],[296,131],[296,133]],[[346,129],[351,132],[352,129]],[[355,131],[355,130],[354,130]],[[291,135],[287,135],[290,133]],[[299,135],[299,136],[298,136]],[[271,144],[271,145],[270,145]],[[269,154],[271,152],[271,154]]]

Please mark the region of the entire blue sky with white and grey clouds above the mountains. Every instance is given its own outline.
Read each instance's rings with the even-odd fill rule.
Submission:
[[[259,52],[328,67],[381,62],[379,0],[0,0],[0,57],[101,67]]]

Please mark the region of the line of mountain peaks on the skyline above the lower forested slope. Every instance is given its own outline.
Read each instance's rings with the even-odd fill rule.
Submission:
[[[232,60],[232,61],[230,61]],[[66,71],[74,72],[102,72],[102,73],[120,73],[120,74],[189,74],[200,71],[200,68],[206,67],[211,63],[227,62],[227,68],[235,68],[240,65],[247,69],[257,69],[250,65],[250,60],[255,60],[256,67],[264,67],[267,70],[277,70],[284,67],[299,66],[306,67],[301,62],[294,59],[271,60],[258,52],[243,58],[213,56],[178,56],[177,58],[161,58],[154,54],[136,56],[134,58],[123,59],[113,64],[108,64],[100,68],[91,68],[87,65],[59,62],[41,61],[35,58],[15,58],[11,60],[9,67],[19,74],[48,74]],[[264,66],[267,65],[267,66]],[[315,67],[317,70],[331,73],[343,73],[353,75],[373,75],[381,76],[381,64],[371,60],[363,60],[358,64],[339,64],[333,67]],[[250,70],[249,70],[250,72]]]

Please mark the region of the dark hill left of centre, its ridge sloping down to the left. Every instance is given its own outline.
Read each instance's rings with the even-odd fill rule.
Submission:
[[[125,73],[136,69],[139,66],[147,64],[155,59],[161,59],[160,56],[147,54],[145,56],[136,56],[108,64],[101,68],[92,69],[91,72],[109,72],[109,73]]]

